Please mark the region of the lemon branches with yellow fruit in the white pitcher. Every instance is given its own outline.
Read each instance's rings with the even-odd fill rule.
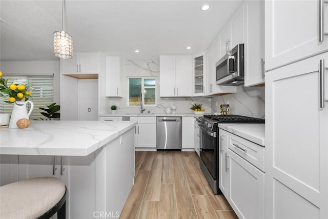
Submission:
[[[8,86],[8,79],[2,77],[2,72],[0,71],[0,97],[8,98],[8,101],[5,101],[8,104],[12,104],[15,101],[27,101],[31,96],[29,91],[29,85],[20,85],[20,84],[10,84]]]

